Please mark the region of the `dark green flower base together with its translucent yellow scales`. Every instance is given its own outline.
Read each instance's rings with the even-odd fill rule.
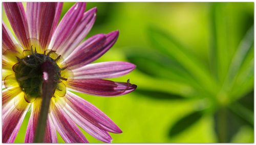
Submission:
[[[63,62],[63,58],[56,54],[56,51],[41,51],[40,48],[38,50],[39,52],[36,47],[33,48],[33,45],[31,45],[31,49],[24,50],[22,56],[15,56],[17,63],[12,66],[12,69],[15,72],[15,76],[12,77],[18,83],[20,90],[24,92],[24,98],[28,103],[34,102],[36,98],[42,96],[41,87],[43,79],[46,80],[49,77],[48,74],[45,74],[42,70],[42,64],[45,62],[51,63],[52,66],[54,66],[54,70],[52,70],[54,73],[51,76],[53,78],[52,82],[55,90],[53,97],[65,96],[65,83],[68,80],[68,77],[72,76],[70,75],[72,74],[72,71],[67,69],[67,66]],[[8,51],[6,53],[8,54]],[[8,86],[8,84],[8,80],[5,80],[5,85]]]

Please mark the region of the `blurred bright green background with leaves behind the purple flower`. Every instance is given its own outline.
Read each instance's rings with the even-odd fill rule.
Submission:
[[[61,17],[73,4],[64,4]],[[88,3],[87,10],[93,7],[88,37],[120,31],[97,62],[137,65],[112,79],[138,85],[130,94],[77,93],[122,129],[113,142],[254,141],[253,3]],[[4,10],[3,20],[11,28]],[[24,142],[29,116],[15,142]]]

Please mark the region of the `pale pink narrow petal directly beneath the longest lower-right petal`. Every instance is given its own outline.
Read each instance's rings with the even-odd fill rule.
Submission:
[[[98,127],[92,125],[86,118],[80,116],[75,110],[73,110],[68,104],[65,106],[65,111],[69,114],[69,116],[74,120],[74,122],[80,126],[87,133],[92,135],[98,140],[103,142],[111,142],[112,138],[108,132],[99,129]]]

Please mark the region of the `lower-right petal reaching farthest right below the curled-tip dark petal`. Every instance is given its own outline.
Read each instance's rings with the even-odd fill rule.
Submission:
[[[113,133],[122,133],[120,128],[102,111],[76,94],[67,91],[67,104],[94,126]]]

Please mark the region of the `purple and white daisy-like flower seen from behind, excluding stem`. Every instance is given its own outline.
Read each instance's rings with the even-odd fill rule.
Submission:
[[[11,27],[3,28],[3,142],[13,142],[27,111],[31,115],[25,142],[33,142],[41,105],[42,80],[54,78],[44,142],[57,142],[56,130],[66,142],[88,142],[77,127],[111,142],[108,132],[122,131],[103,112],[72,91],[99,96],[132,92],[136,85],[103,80],[123,76],[136,66],[128,62],[92,63],[116,42],[118,31],[97,34],[82,42],[91,30],[96,8],[76,3],[58,24],[62,3],[3,3]],[[42,67],[53,68],[53,74]],[[44,66],[42,66],[44,65]]]

